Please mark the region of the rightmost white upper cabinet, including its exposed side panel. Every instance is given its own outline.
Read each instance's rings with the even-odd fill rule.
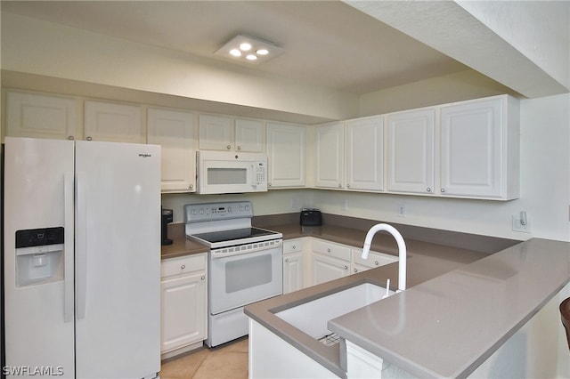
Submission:
[[[441,195],[519,196],[519,105],[501,95],[441,108]]]

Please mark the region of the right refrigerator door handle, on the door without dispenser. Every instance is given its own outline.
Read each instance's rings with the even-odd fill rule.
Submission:
[[[85,319],[85,302],[87,291],[87,201],[85,198],[85,173],[77,173],[76,178],[76,195],[77,195],[77,223],[76,223],[76,247],[75,247],[75,263],[76,263],[76,302],[77,302],[77,319]]]

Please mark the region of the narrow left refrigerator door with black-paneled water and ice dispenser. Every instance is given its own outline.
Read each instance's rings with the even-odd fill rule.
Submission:
[[[74,144],[4,143],[3,371],[73,378]],[[18,230],[25,240],[16,248]]]

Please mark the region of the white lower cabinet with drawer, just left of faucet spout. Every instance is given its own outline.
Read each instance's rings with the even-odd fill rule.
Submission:
[[[312,285],[350,275],[350,247],[314,239],[311,252]]]

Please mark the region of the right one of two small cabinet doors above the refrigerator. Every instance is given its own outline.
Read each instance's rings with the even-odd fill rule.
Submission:
[[[144,143],[141,107],[85,101],[85,140]]]

